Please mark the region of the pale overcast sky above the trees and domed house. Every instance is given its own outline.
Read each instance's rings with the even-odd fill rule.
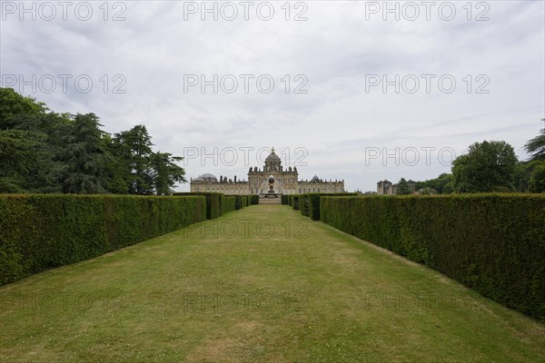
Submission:
[[[374,191],[473,142],[525,159],[543,127],[541,0],[0,5],[2,86],[106,132],[145,124],[188,179],[244,179],[273,146],[300,179]]]

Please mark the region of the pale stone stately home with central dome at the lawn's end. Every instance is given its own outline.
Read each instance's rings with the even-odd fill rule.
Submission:
[[[190,182],[191,191],[217,191],[223,194],[256,194],[261,197],[279,196],[282,194],[300,194],[306,192],[344,192],[344,181],[322,181],[314,175],[310,181],[299,181],[296,167],[282,167],[280,157],[272,148],[265,159],[263,170],[251,167],[248,181],[237,181],[236,177],[227,179],[220,176],[218,180],[213,174],[206,173]]]

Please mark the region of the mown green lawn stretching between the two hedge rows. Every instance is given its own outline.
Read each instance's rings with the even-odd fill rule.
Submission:
[[[542,324],[280,205],[37,274],[0,299],[1,362],[545,361]]]

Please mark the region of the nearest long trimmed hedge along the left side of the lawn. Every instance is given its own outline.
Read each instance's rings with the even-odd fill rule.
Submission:
[[[199,196],[0,195],[0,285],[205,218]]]

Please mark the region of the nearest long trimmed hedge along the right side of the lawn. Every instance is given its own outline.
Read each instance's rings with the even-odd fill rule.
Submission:
[[[545,195],[323,197],[321,219],[545,320]]]

